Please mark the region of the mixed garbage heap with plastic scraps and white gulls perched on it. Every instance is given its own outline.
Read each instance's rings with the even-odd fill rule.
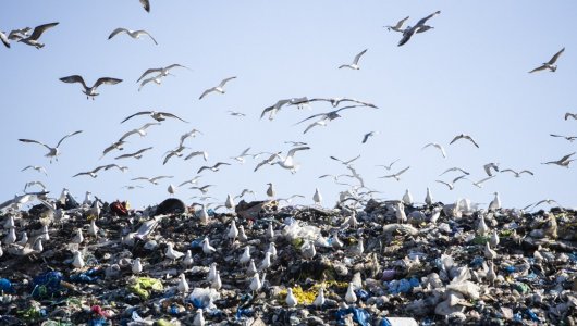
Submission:
[[[69,196],[0,217],[2,325],[577,323],[570,210]]]

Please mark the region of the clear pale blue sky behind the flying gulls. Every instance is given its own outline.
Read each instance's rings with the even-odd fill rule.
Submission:
[[[574,30],[575,1],[187,1],[150,0],[151,11],[137,0],[21,1],[5,0],[0,11],[0,30],[60,22],[40,38],[45,48],[12,42],[0,47],[2,59],[2,114],[0,142],[3,155],[0,201],[23,193],[27,181],[40,180],[58,197],[66,187],[79,200],[86,190],[105,200],[128,200],[133,206],[156,204],[165,199],[169,184],[193,178],[207,164],[229,162],[219,172],[201,173],[199,185],[216,185],[207,195],[224,201],[228,193],[243,188],[266,198],[267,183],[273,183],[279,197],[306,196],[297,203],[309,204],[318,187],[323,204],[332,205],[337,192],[322,174],[348,173],[330,155],[352,159],[366,186],[382,191],[379,198],[400,199],[409,188],[416,201],[423,201],[426,188],[444,203],[458,198],[488,203],[499,191],[503,205],[523,208],[549,198],[565,206],[577,206],[577,173],[541,162],[558,160],[576,150],[577,142],[549,134],[577,136],[577,121],[564,120],[577,113],[577,38]],[[433,26],[397,47],[401,34],[384,25],[410,16],[408,25],[440,10]],[[118,35],[116,27],[146,29],[158,41]],[[527,72],[547,62],[565,47],[555,73]],[[360,70],[339,70],[364,49]],[[136,79],[150,67],[183,64],[162,85],[149,84],[138,91]],[[96,100],[87,100],[78,84],[64,84],[60,77],[78,74],[91,85],[108,76],[123,79],[103,85]],[[200,93],[230,82],[226,93]],[[280,99],[296,97],[351,97],[375,103],[378,110],[360,108],[341,112],[342,117],[327,127],[303,134],[306,124],[296,122],[311,114],[333,110],[315,102],[309,109],[283,108],[275,120],[259,120],[262,109]],[[124,151],[102,158],[105,148],[127,130],[154,122],[142,115],[120,124],[138,111],[167,111],[188,121],[168,120],[149,128],[140,138],[128,138]],[[244,117],[229,115],[240,111]],[[163,154],[179,145],[182,134],[197,128],[204,133],[186,140],[191,151],[206,150],[208,162],[199,156],[188,161],[173,158],[162,165]],[[58,162],[49,163],[46,149],[23,143],[19,138],[56,145],[74,130],[82,134],[66,139]],[[367,143],[363,136],[379,131]],[[458,134],[469,134],[479,143],[449,142]],[[309,151],[297,152],[302,164],[292,175],[279,165],[263,166],[256,173],[258,159],[244,164],[231,160],[250,147],[251,153],[286,151],[286,140],[305,141]],[[429,142],[441,143],[447,158]],[[142,160],[114,160],[122,153],[145,147],[154,149]],[[386,172],[377,164],[400,159],[392,172],[410,168],[400,181],[378,178]],[[474,180],[486,177],[482,165],[530,170],[535,176],[515,178],[502,173],[482,189],[459,180],[454,190],[437,179],[458,176],[447,173],[459,166]],[[72,176],[98,165],[118,163],[130,170],[101,171],[96,179]],[[574,163],[577,164],[577,163]],[[21,170],[41,165],[48,176]],[[172,175],[158,186],[131,181],[135,177]],[[342,180],[346,180],[342,179]],[[143,189],[126,190],[125,185]],[[32,188],[37,189],[37,188]],[[189,203],[198,190],[182,187],[176,197]],[[248,197],[251,199],[251,197]]]

